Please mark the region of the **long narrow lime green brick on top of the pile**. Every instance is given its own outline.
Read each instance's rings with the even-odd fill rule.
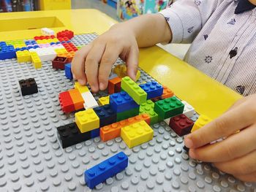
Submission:
[[[132,81],[130,77],[122,78],[121,88],[126,91],[137,104],[146,102],[147,93],[142,88],[140,88],[136,82]]]

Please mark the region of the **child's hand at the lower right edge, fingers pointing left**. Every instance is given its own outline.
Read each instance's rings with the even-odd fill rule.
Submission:
[[[239,100],[224,115],[189,134],[185,145],[192,158],[212,162],[240,180],[256,182],[255,136],[256,94]],[[209,145],[223,137],[222,142]]]

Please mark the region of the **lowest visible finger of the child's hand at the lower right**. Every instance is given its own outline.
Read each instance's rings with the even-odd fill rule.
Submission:
[[[256,150],[240,158],[235,158],[231,161],[214,163],[214,165],[222,172],[226,172],[228,174],[241,175],[256,172],[255,162]]]

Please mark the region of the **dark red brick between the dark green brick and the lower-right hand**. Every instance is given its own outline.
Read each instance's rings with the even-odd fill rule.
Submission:
[[[193,125],[194,122],[187,118],[187,116],[184,114],[170,118],[169,126],[174,132],[176,132],[176,134],[178,134],[179,137],[189,134]]]

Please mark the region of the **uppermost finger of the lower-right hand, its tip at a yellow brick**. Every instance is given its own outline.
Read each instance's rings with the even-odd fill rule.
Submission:
[[[206,126],[185,137],[188,148],[197,148],[217,139],[227,137],[255,122],[255,110],[248,102],[230,110]],[[252,114],[252,115],[248,115]]]

